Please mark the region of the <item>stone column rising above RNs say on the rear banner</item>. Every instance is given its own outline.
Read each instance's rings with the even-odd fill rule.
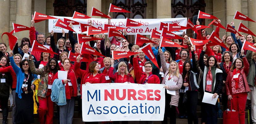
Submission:
[[[101,11],[101,0],[88,0],[87,1],[87,15],[92,18],[101,18],[99,16],[91,16],[93,7],[96,8],[97,10]]]

